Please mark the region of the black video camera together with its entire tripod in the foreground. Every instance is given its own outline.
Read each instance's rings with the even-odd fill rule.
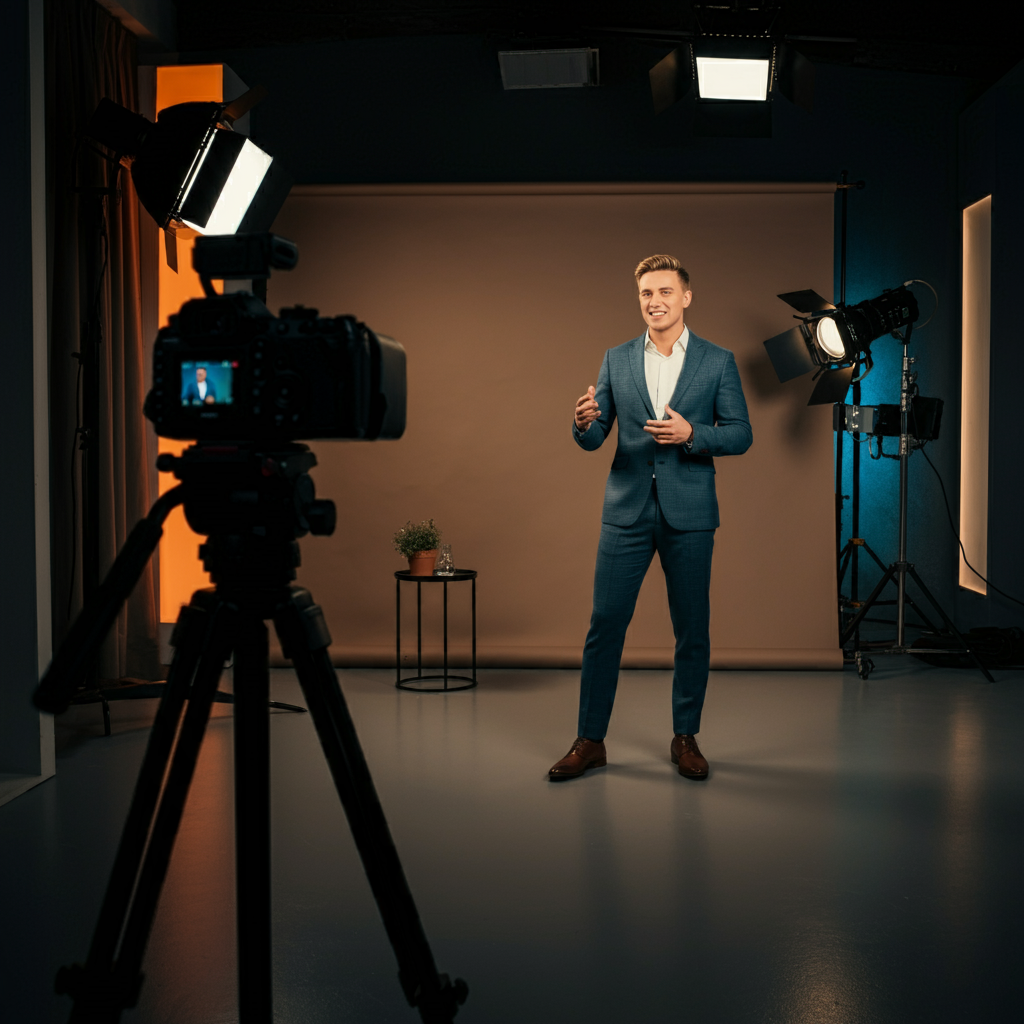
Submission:
[[[183,506],[188,523],[207,537],[200,555],[214,589],[197,591],[174,628],[174,658],[89,958],[57,975],[57,991],[75,1000],[72,1020],[116,1024],[135,1006],[145,939],[210,708],[222,698],[234,706],[240,1017],[273,1016],[267,620],[305,694],[407,999],[423,1024],[451,1024],[466,998],[466,983],[438,973],[434,963],[331,664],[324,614],[307,590],[293,585],[298,539],[329,536],[336,515],[333,502],[315,498],[309,470],[316,458],[297,440],[399,437],[406,353],[351,316],[321,318],[301,306],[271,314],[253,293],[265,296],[259,286],[270,267],[286,269],[296,259],[292,243],[270,234],[196,240],[193,265],[206,298],[185,303],[160,332],[145,415],[162,436],[197,443],[180,456],[160,456],[158,468],[180,483],[132,529],[35,694],[44,711],[68,707],[168,515]],[[218,295],[215,280],[250,280],[253,292]],[[228,659],[233,694],[222,697],[217,682]]]

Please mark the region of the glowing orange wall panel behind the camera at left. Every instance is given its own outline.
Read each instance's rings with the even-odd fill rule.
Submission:
[[[195,65],[157,69],[157,112],[175,103],[224,98],[223,65]],[[175,273],[164,259],[164,232],[160,232],[160,326],[166,327],[168,317],[176,313],[188,299],[200,298],[203,286],[199,274],[191,267],[191,240],[178,240],[178,272]],[[187,441],[160,438],[160,451],[178,455]],[[160,474],[160,493],[169,490],[178,481],[169,473]],[[171,623],[178,617],[178,609],[188,603],[193,591],[210,586],[210,578],[199,560],[199,545],[203,538],[194,534],[185,522],[184,512],[176,508],[164,524],[160,542],[160,618]]]

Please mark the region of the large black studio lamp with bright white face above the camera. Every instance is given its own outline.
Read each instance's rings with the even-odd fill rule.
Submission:
[[[131,168],[139,202],[167,232],[172,268],[175,236],[263,232],[281,210],[290,176],[231,127],[264,95],[251,89],[231,103],[176,103],[156,122],[99,101],[86,134]]]

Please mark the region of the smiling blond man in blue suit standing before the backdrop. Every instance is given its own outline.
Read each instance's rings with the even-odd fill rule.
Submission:
[[[618,418],[618,443],[604,492],[594,574],[594,611],[584,646],[575,742],[549,778],[578,778],[607,763],[626,630],[640,585],[658,553],[676,635],[672,761],[707,778],[696,742],[711,658],[711,556],[719,525],[715,456],[742,455],[753,434],[732,352],[690,333],[690,279],[674,256],[636,268],[647,331],[609,348],[575,404],[572,437],[601,446]]]

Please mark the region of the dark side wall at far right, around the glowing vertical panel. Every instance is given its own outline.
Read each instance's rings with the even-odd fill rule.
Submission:
[[[1000,590],[1024,599],[1024,425],[1021,421],[1021,273],[1024,271],[1024,196],[1021,110],[1024,65],[972,103],[961,117],[959,193],[963,208],[992,197],[992,340],[988,465],[988,568]],[[989,591],[964,591],[961,616],[971,623],[1020,625],[1019,604]]]

